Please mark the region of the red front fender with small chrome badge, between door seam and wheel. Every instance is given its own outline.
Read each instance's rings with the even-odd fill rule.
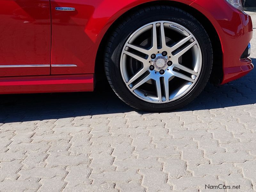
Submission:
[[[189,6],[195,0],[175,1]],[[51,0],[52,65],[76,65],[74,68],[52,67],[51,74],[95,73],[97,52],[110,26],[125,12],[149,2],[159,4],[161,1]],[[75,10],[61,12],[56,11],[56,7],[73,7]]]

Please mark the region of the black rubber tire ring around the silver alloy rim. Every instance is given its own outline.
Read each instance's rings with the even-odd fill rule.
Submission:
[[[124,84],[120,57],[129,36],[140,27],[159,20],[178,23],[196,37],[202,52],[202,70],[194,88],[178,100],[169,103],[150,103],[139,99]],[[108,82],[116,95],[126,104],[143,111],[163,112],[184,107],[193,101],[204,89],[212,70],[212,45],[204,27],[189,13],[172,6],[150,6],[131,13],[113,31],[106,47],[105,72]]]

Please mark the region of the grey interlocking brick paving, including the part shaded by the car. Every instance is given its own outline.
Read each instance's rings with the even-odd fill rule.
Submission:
[[[252,58],[255,50],[256,34]],[[106,85],[2,95],[0,191],[225,191],[205,190],[219,184],[256,191],[255,103],[256,70],[208,84],[172,113],[133,111]]]

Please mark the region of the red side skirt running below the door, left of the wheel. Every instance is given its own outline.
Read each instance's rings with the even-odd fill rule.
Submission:
[[[91,92],[93,89],[93,74],[0,78],[0,94]]]

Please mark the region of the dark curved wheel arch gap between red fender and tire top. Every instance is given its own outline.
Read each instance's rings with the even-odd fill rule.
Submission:
[[[213,48],[213,67],[212,67],[212,73],[210,77],[210,82],[214,84],[220,84],[223,79],[223,55],[222,55],[222,46],[220,37],[218,35],[218,32],[216,28],[213,26],[212,22],[200,11],[198,11],[196,8],[193,8],[185,3],[180,3],[177,1],[168,1],[168,0],[157,0],[157,1],[151,1],[147,3],[139,4],[128,11],[121,14],[108,28],[106,33],[104,34],[103,38],[100,41],[100,45],[96,54],[96,60],[95,60],[95,79],[96,81],[105,79],[105,72],[104,72],[104,51],[107,44],[107,41],[109,37],[111,36],[111,33],[116,28],[116,26],[119,24],[119,22],[132,12],[139,10],[143,7],[147,6],[156,6],[157,5],[168,5],[177,7],[179,9],[182,9],[189,14],[191,14],[193,17],[195,17],[205,28],[207,34],[210,37],[210,41],[212,43]]]

